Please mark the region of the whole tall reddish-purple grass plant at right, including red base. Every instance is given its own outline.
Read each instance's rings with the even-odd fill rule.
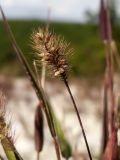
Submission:
[[[116,160],[117,159],[117,131],[118,129],[115,126],[115,95],[114,95],[114,63],[113,63],[113,53],[114,48],[112,47],[113,40],[112,40],[112,27],[110,21],[110,11],[108,7],[108,0],[101,0],[100,6],[100,34],[101,39],[104,44],[105,48],[105,55],[106,55],[106,82],[108,83],[105,86],[106,91],[108,90],[109,97],[105,97],[107,104],[109,104],[109,109],[106,110],[104,108],[104,127],[110,128],[108,130],[108,134],[106,135],[106,129],[104,129],[103,134],[104,138],[103,142],[103,160]],[[106,107],[106,105],[104,105]],[[110,110],[110,112],[108,112]],[[109,117],[109,121],[105,121],[106,117]],[[110,127],[109,127],[110,126]]]

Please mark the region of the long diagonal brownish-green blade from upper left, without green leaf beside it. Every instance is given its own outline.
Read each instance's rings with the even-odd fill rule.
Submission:
[[[24,57],[24,54],[22,53],[21,49],[17,45],[16,40],[14,38],[14,35],[13,35],[11,29],[10,29],[10,26],[9,26],[7,20],[6,20],[6,17],[4,15],[4,12],[3,12],[1,6],[0,6],[0,11],[2,13],[2,18],[3,18],[4,25],[5,25],[5,29],[7,31],[9,39],[10,39],[10,41],[12,43],[13,49],[15,50],[15,53],[16,53],[18,59],[20,60],[21,64],[24,66],[25,71],[26,71],[26,73],[27,73],[27,75],[28,75],[28,77],[29,77],[29,79],[31,81],[31,84],[32,84],[32,86],[34,87],[34,89],[36,91],[38,99],[42,100],[42,102],[43,102],[44,111],[45,111],[45,114],[46,114],[46,118],[47,118],[47,122],[48,122],[48,125],[49,125],[49,129],[50,129],[51,135],[52,135],[52,137],[54,139],[57,158],[58,158],[58,160],[60,160],[59,145],[58,145],[58,141],[57,141],[57,138],[56,138],[57,134],[56,134],[56,130],[55,130],[55,127],[54,127],[52,113],[51,113],[51,110],[50,110],[50,107],[49,107],[50,104],[46,99],[46,96],[44,94],[44,91],[43,91],[42,87],[40,87],[38,85],[38,83],[36,81],[36,78],[35,78],[35,75],[33,74],[33,71],[31,70],[26,58]]]

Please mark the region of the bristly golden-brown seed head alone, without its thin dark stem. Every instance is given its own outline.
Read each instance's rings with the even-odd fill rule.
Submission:
[[[32,33],[31,40],[38,62],[46,62],[51,66],[55,76],[66,74],[68,69],[66,59],[72,49],[64,38],[56,36],[48,30],[38,29]]]

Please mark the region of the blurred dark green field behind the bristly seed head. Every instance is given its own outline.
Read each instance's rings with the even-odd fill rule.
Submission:
[[[15,38],[21,47],[25,56],[29,59],[33,56],[30,48],[30,34],[34,28],[42,27],[43,22],[40,21],[25,21],[14,20],[9,21]],[[51,29],[56,34],[64,35],[65,39],[71,43],[74,48],[74,54],[71,56],[71,67],[73,74],[82,76],[100,75],[104,71],[105,60],[103,44],[99,36],[99,28],[96,25],[90,24],[69,24],[69,23],[51,23]],[[120,48],[119,27],[113,28],[113,34]],[[0,21],[0,67],[7,68],[11,66],[13,73],[15,70],[20,74],[19,65],[17,64],[14,51],[9,43],[8,37]],[[10,69],[10,66],[7,69]]]

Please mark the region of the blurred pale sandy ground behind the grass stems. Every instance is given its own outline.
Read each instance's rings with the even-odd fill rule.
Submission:
[[[116,78],[115,90],[119,94],[119,78]],[[102,82],[87,83],[85,80],[73,80],[70,83],[86,131],[88,143],[94,160],[97,160],[102,142]],[[15,145],[24,160],[36,160],[34,147],[34,115],[38,104],[36,94],[25,78],[8,79],[0,77],[0,88],[7,97],[7,119],[12,122],[12,134]],[[72,146],[71,160],[85,160],[87,151],[81,129],[76,118],[71,100],[62,82],[55,80],[46,83],[46,92],[62,129]],[[0,153],[2,148],[0,148]],[[40,160],[55,160],[53,141],[44,121],[44,148]]]

